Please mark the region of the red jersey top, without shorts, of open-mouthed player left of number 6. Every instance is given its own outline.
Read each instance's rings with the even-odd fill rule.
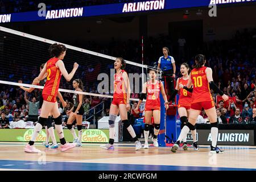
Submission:
[[[125,81],[123,81],[123,73],[125,71],[122,70],[120,73],[115,73],[114,75],[114,95],[113,98],[123,99],[126,100],[127,93],[126,93],[126,86]]]

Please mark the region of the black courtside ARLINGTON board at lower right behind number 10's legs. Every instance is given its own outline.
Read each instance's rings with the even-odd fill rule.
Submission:
[[[210,130],[196,130],[197,143],[211,144],[212,136]],[[187,136],[188,141],[193,140],[191,134]],[[218,130],[219,145],[254,145],[254,130]]]

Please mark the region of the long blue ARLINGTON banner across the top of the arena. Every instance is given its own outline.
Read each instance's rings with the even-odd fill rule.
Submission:
[[[60,18],[79,18],[111,14],[127,14],[189,7],[208,7],[212,4],[226,5],[247,2],[256,2],[256,0],[155,0],[131,3],[115,3],[109,5],[84,6],[61,10],[46,10],[45,16],[38,15],[39,11],[43,11],[40,9],[38,11],[30,11],[24,13],[1,14],[0,23],[29,22]]]

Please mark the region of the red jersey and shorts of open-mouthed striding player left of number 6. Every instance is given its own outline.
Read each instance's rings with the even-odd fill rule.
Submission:
[[[115,73],[114,75],[114,95],[112,104],[117,106],[119,104],[126,105],[127,93],[125,81],[123,81],[123,73],[125,73],[124,70],[122,70],[120,73]]]

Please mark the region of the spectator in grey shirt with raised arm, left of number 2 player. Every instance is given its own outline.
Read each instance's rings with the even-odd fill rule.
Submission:
[[[30,121],[38,121],[38,110],[39,110],[39,101],[36,102],[36,98],[32,98],[32,102],[27,100],[27,92],[25,92],[25,100],[29,106],[28,117]],[[24,110],[24,109],[23,109]]]

